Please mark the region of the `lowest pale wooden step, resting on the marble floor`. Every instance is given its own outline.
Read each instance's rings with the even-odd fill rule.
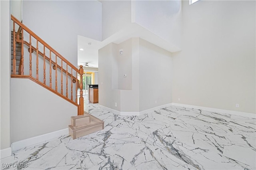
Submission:
[[[104,129],[104,121],[101,121],[88,113],[84,113],[84,115],[90,116],[89,123],[84,123],[82,126],[77,127],[73,127],[72,125],[68,126],[69,134],[73,139]]]

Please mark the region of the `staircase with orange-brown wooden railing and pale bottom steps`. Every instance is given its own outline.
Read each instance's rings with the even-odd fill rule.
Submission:
[[[77,106],[69,125],[73,139],[104,129],[103,121],[84,112],[83,66],[78,69],[14,16],[11,20],[11,78],[30,79]]]

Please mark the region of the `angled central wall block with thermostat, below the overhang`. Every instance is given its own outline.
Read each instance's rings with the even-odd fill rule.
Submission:
[[[120,48],[124,56],[118,54]],[[129,61],[123,62],[125,60],[120,57],[127,57]],[[132,72],[131,75],[127,73],[127,82],[123,79],[123,70],[119,69],[125,64]],[[131,89],[116,89],[123,85],[122,81],[130,84]],[[99,50],[99,104],[102,106],[138,113],[165,105],[172,102],[171,84],[171,53],[152,43],[131,38],[118,45],[110,43]],[[118,107],[114,107],[114,103]]]

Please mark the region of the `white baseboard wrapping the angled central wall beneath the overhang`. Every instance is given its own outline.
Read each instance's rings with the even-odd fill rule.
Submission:
[[[165,104],[165,105],[161,105],[161,106],[157,106],[157,107],[153,107],[153,108],[150,108],[150,109],[147,109],[147,110],[144,110],[144,111],[140,111],[140,112],[122,112],[122,111],[117,111],[117,110],[114,110],[114,109],[111,109],[111,108],[108,108],[108,107],[105,107],[105,106],[102,106],[102,105],[98,105],[100,108],[106,110],[106,111],[110,111],[116,115],[121,115],[121,116],[139,116],[139,115],[144,115],[145,113],[149,113],[149,112],[152,112],[152,111],[155,111],[157,109],[162,109],[164,107],[167,107],[167,106],[171,106],[172,103],[168,103],[168,104]]]

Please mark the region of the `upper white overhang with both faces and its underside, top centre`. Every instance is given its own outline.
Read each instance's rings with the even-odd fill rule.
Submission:
[[[180,51],[180,1],[106,0],[102,2],[102,40],[121,43],[140,37],[169,51]]]

